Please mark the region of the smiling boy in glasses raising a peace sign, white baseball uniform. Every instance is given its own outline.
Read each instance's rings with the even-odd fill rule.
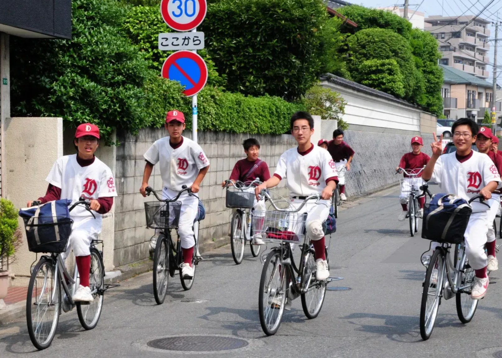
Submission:
[[[477,124],[469,118],[460,118],[453,123],[451,131],[456,152],[441,155],[443,136],[438,140],[433,133],[432,157],[422,173],[422,179],[432,179],[442,192],[454,193],[466,200],[477,194],[485,200],[490,199],[491,193],[500,186],[500,175],[487,155],[471,149],[477,139]],[[465,253],[475,273],[471,298],[478,300],[485,296],[488,288],[487,257],[484,252],[488,207],[479,202],[472,202],[471,206],[472,214],[464,233]]]

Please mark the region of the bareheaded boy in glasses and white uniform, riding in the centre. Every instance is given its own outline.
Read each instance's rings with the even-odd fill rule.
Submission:
[[[312,200],[299,213],[308,213],[305,228],[315,250],[316,278],[319,281],[326,280],[329,270],[322,223],[329,215],[329,199],[338,182],[335,163],[328,152],[310,143],[310,137],[314,133],[314,120],[309,113],[299,111],[293,114],[290,128],[298,147],[281,155],[274,175],[259,185],[255,193],[258,199],[263,189],[273,188],[282,179],[286,179],[293,207],[299,207],[310,195],[320,196],[319,201]]]

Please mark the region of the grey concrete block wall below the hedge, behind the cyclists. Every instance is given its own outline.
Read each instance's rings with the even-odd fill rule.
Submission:
[[[143,154],[156,140],[166,136],[164,129],[141,130],[138,136],[117,134],[120,146],[116,149],[118,198],[115,203],[114,266],[143,260],[149,256],[152,229],[145,227],[144,202],[139,193],[145,168]],[[191,138],[191,132],[183,135]],[[274,172],[280,155],[295,145],[293,137],[199,132],[198,141],[210,160],[210,168],[202,182],[199,197],[206,208],[206,218],[200,225],[200,243],[228,235],[231,210],[225,207],[225,191],[221,182],[228,179],[235,162],[245,157],[242,142],[256,138],[261,144],[260,158]],[[158,165],[150,179],[150,186],[162,188]],[[282,184],[284,187],[284,184]],[[281,189],[284,191],[285,189]]]

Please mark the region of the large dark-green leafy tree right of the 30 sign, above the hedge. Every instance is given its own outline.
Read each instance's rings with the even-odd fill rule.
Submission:
[[[321,74],[322,0],[219,0],[200,30],[227,89],[250,95],[302,96]]]

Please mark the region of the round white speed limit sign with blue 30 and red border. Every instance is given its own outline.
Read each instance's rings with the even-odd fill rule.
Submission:
[[[175,31],[190,31],[199,26],[206,17],[206,0],[162,0],[162,19]]]

